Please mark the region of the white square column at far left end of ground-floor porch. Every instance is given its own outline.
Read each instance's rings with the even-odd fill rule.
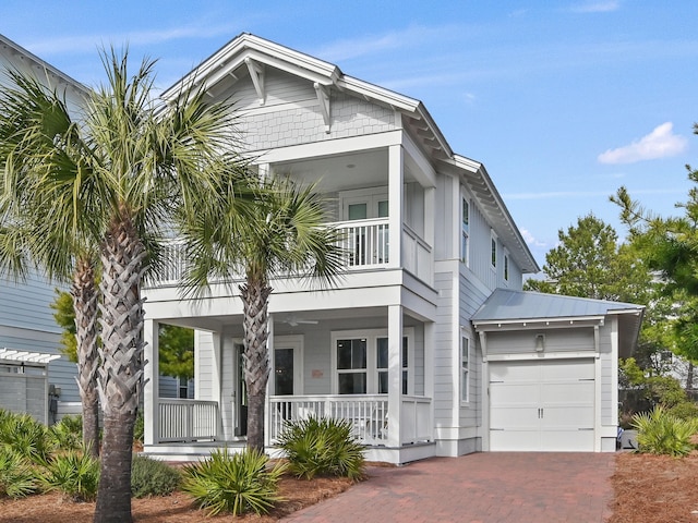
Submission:
[[[143,428],[145,446],[157,445],[159,440],[159,355],[158,355],[158,327],[153,319],[146,319],[143,325],[143,338],[145,341],[143,357],[145,386],[143,387]]]

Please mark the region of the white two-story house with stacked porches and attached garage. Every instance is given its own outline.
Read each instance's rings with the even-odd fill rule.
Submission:
[[[345,232],[336,287],[272,283],[270,450],[286,419],[310,414],[350,419],[368,457],[394,463],[615,449],[616,362],[642,308],[521,292],[539,267],[490,174],[450,148],[419,100],[250,34],[181,82],[232,97],[260,174],[317,182]],[[145,451],[242,447],[237,285],[192,300],[178,277],[145,290]],[[196,329],[194,400],[156,393],[159,324]]]

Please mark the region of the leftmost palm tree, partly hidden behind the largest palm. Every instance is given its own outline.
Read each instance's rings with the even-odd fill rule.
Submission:
[[[83,445],[97,457],[99,398],[96,380],[98,335],[93,262],[95,254],[89,253],[88,247],[76,247],[77,239],[73,235],[67,236],[65,229],[46,227],[45,212],[48,211],[48,207],[45,206],[45,202],[27,191],[27,179],[14,180],[11,171],[19,165],[16,155],[22,154],[29,142],[33,162],[45,161],[38,158],[55,155],[56,144],[50,137],[70,136],[71,122],[64,118],[68,114],[65,104],[55,92],[16,71],[7,71],[7,75],[17,87],[8,89],[0,96],[0,165],[8,169],[0,191],[0,208],[5,232],[0,236],[2,259],[8,260],[7,269],[17,277],[23,277],[26,271],[26,268],[17,263],[16,255],[21,253],[24,264],[31,258],[49,279],[63,282],[72,279]],[[22,161],[26,161],[23,168],[28,168],[28,157]],[[34,197],[33,203],[28,202],[29,197]]]

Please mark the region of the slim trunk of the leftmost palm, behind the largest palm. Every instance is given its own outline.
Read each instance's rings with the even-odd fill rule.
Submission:
[[[97,393],[97,289],[95,268],[80,258],[73,277],[73,308],[77,340],[77,388],[83,403],[83,445],[99,455],[99,394]]]

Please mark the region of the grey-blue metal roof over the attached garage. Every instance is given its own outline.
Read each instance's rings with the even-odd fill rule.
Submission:
[[[643,309],[633,303],[496,289],[473,315],[472,323],[581,318]]]

